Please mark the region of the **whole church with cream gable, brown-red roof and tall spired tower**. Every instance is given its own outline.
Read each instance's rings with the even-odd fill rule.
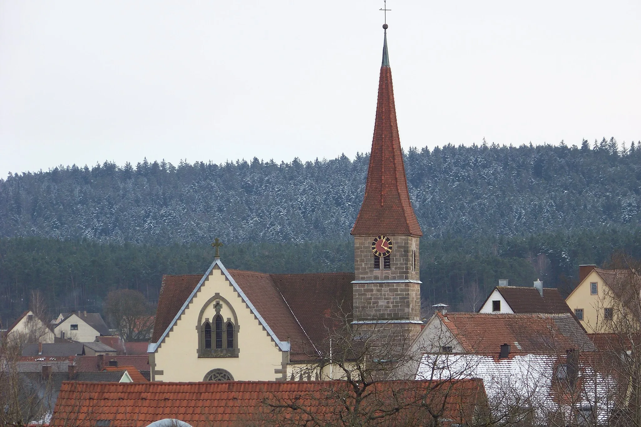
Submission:
[[[354,271],[267,274],[228,270],[165,275],[151,343],[152,381],[284,381],[332,378],[313,366],[337,316],[351,325],[420,332],[419,222],[399,139],[387,24],[365,196],[356,222]],[[331,351],[331,346],[330,350]],[[303,375],[303,372],[306,374]]]

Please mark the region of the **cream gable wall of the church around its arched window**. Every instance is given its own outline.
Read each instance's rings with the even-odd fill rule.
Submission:
[[[233,321],[233,314],[224,300],[229,302],[236,312],[238,348],[240,349],[238,357],[199,358],[197,355],[198,317],[203,306],[216,293],[222,297],[221,316],[225,321],[228,318]],[[205,318],[209,318],[210,322],[213,321],[214,303],[215,301],[212,301],[206,307],[203,322]],[[279,350],[258,319],[242,302],[242,298],[233,289],[231,283],[226,280],[222,271],[215,266],[156,353],[151,355],[150,363],[156,364],[153,367],[156,371],[154,375],[156,381],[203,381],[206,373],[215,368],[226,369],[234,380],[238,381],[274,381],[282,376],[274,370],[281,369],[283,354],[287,357],[287,352],[283,353]],[[162,371],[162,375],[158,375],[157,371]]]

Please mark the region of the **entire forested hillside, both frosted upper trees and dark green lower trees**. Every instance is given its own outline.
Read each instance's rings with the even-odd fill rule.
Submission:
[[[32,290],[52,312],[100,311],[113,289],[158,298],[162,274],[351,271],[369,156],[290,163],[143,161],[0,180],[0,318]],[[471,310],[499,278],[565,293],[579,264],[641,254],[641,143],[445,145],[404,153],[424,232],[424,305]],[[479,301],[480,300],[480,301]]]

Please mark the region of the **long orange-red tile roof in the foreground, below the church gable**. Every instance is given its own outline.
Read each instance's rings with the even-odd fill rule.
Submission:
[[[274,410],[285,401],[297,403],[322,421],[332,425],[345,407],[340,398],[353,394],[349,383],[332,382],[208,382],[208,383],[88,383],[64,382],[56,401],[51,426],[94,425],[109,420],[110,427],[144,427],[164,418],[179,419],[194,427],[233,427],[246,423],[276,421],[287,417],[303,421],[303,411]],[[385,405],[403,402],[399,414],[388,424],[408,419],[429,418],[421,405],[444,408],[444,426],[465,423],[486,402],[480,380],[453,382],[381,382],[369,389],[362,410],[370,412]],[[396,392],[393,396],[393,393]],[[383,403],[381,403],[383,402]],[[374,405],[372,405],[374,403]],[[392,406],[390,406],[392,408]],[[302,424],[301,424],[302,425]]]

